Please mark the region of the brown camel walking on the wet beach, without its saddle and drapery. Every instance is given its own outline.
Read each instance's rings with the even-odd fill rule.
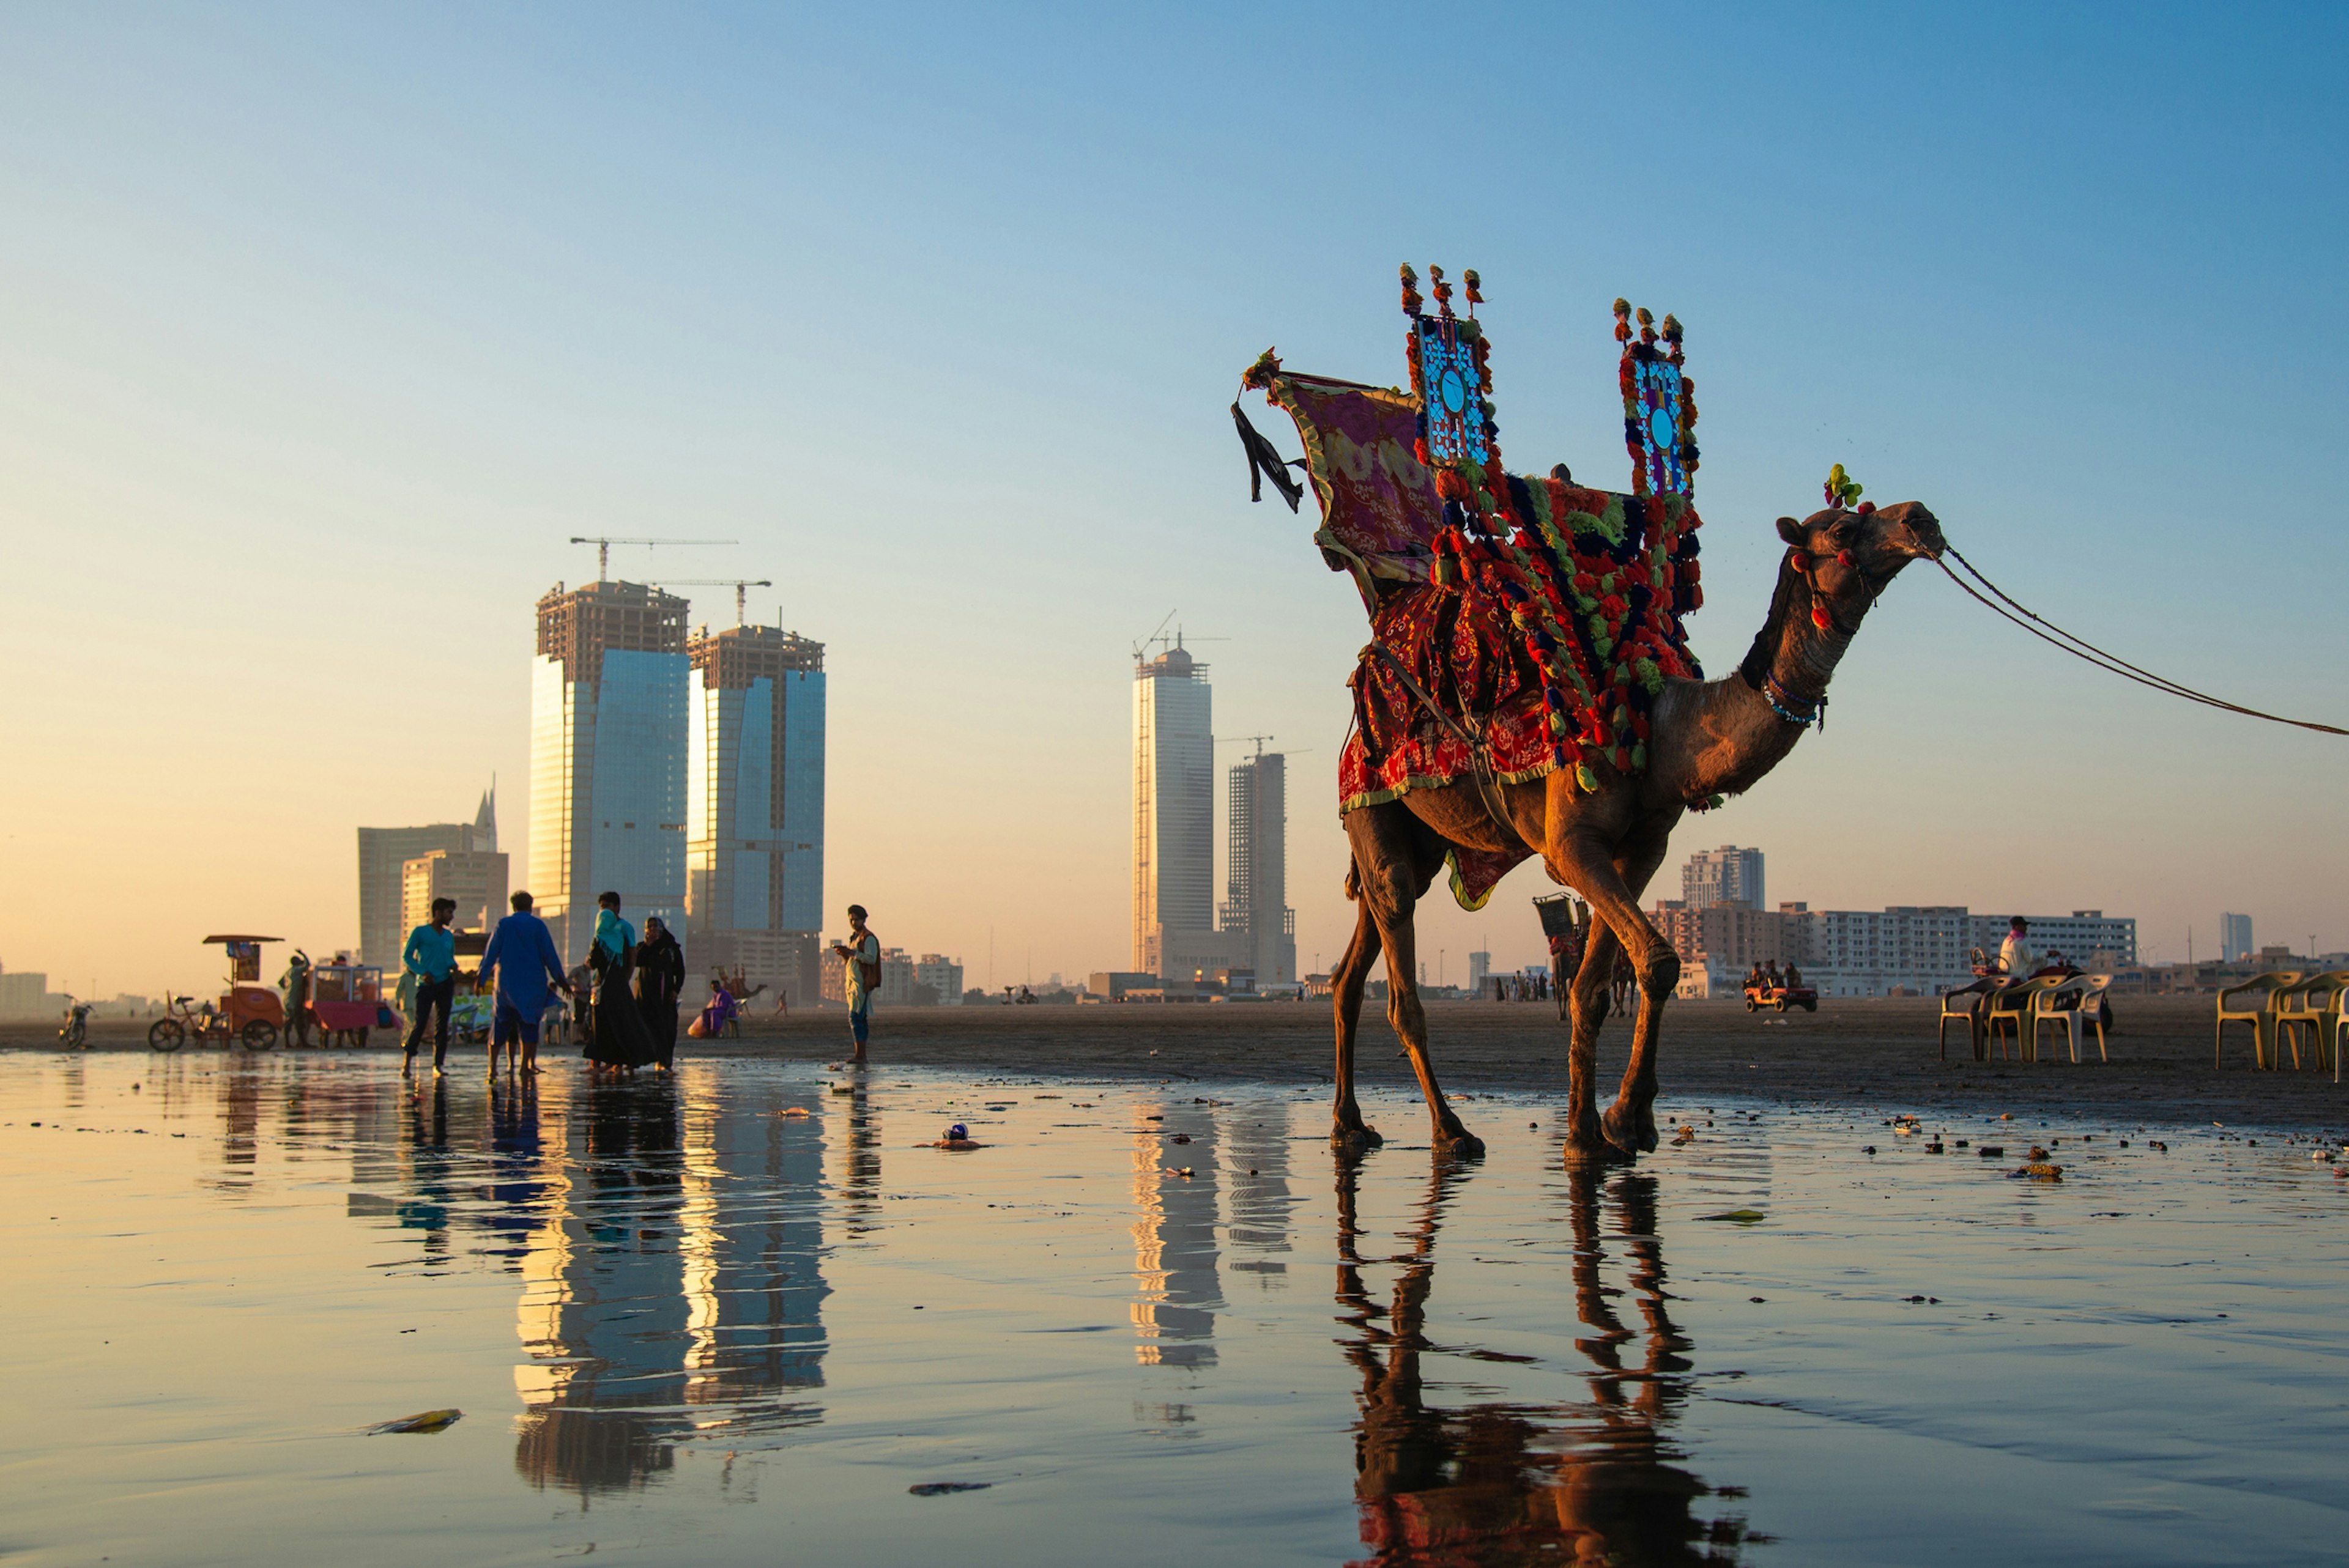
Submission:
[[[1680,958],[1640,913],[1640,894],[1663,864],[1682,812],[1710,796],[1752,789],[1825,711],[1828,681],[1886,584],[1917,559],[1943,552],[1940,523],[1914,500],[1846,512],[1830,507],[1804,521],[1778,519],[1788,542],[1769,620],[1738,671],[1722,681],[1668,681],[1649,716],[1647,770],[1626,775],[1597,763],[1597,789],[1571,770],[1501,784],[1508,824],[1485,805],[1475,779],[1367,805],[1346,815],[1353,864],[1346,897],[1355,901],[1353,939],[1332,979],[1337,1012],[1337,1103],[1332,1141],[1341,1148],[1381,1143],[1353,1099],[1355,1023],[1369,965],[1386,955],[1386,1019],[1419,1075],[1435,1145],[1482,1153],[1428,1056],[1428,1019],[1419,1002],[1412,911],[1452,845],[1503,852],[1517,845],[1541,857],[1550,880],[1571,887],[1595,913],[1590,944],[1574,974],[1574,1035],[1567,1049],[1567,1160],[1637,1160],[1656,1148],[1656,1045],[1663,1005],[1680,984]],[[1442,592],[1442,589],[1409,589]],[[1510,838],[1503,838],[1508,833]],[[1604,1115],[1593,1075],[1600,1023],[1616,953],[1640,979],[1630,1063]]]

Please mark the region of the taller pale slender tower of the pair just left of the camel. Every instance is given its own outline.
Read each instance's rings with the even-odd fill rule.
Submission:
[[[1135,664],[1132,965],[1172,991],[1252,960],[1252,939],[1214,930],[1212,692],[1177,638]]]

